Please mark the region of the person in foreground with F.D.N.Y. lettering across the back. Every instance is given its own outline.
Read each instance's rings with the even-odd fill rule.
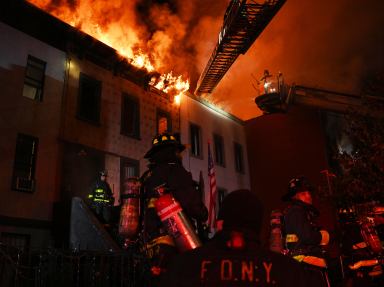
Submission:
[[[203,246],[175,257],[160,286],[318,286],[307,284],[301,264],[262,248],[262,205],[253,192],[229,193],[219,215],[222,230]]]

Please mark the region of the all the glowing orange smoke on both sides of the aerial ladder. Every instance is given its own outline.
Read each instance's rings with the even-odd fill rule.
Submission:
[[[77,27],[85,18],[93,19],[95,29],[114,33],[127,49],[148,54],[158,72],[188,77],[192,92],[230,2],[29,1],[50,12],[70,9]],[[287,0],[208,99],[244,120],[260,115],[252,75],[260,78],[265,69],[273,75],[282,72],[288,84],[358,94],[363,77],[384,69],[382,11],[382,0]]]

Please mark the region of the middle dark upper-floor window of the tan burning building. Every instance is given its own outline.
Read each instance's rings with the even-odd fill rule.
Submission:
[[[140,102],[136,97],[123,94],[121,100],[121,131],[123,135],[140,137]]]

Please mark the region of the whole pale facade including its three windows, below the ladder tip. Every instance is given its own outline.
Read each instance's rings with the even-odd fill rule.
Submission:
[[[181,139],[188,144],[183,164],[204,187],[209,207],[208,143],[215,170],[217,208],[223,197],[236,189],[250,189],[244,122],[191,94],[180,105]]]

